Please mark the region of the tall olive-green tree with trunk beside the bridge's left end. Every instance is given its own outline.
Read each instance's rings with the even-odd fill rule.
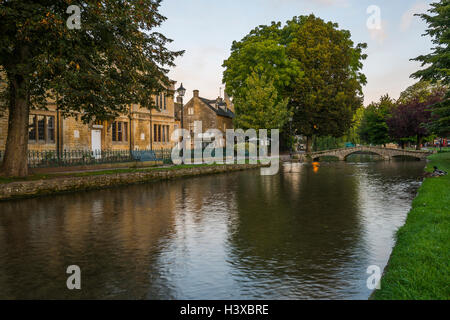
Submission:
[[[355,46],[349,31],[314,15],[295,17],[288,26],[293,30],[288,56],[304,72],[290,86],[290,106],[310,152],[313,135],[340,137],[351,127],[362,105],[366,78],[360,70],[366,45]]]

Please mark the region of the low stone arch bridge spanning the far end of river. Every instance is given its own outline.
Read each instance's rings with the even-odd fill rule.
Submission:
[[[383,147],[359,146],[353,148],[342,148],[334,150],[324,150],[311,152],[309,154],[300,154],[299,160],[317,161],[322,157],[336,157],[339,160],[345,160],[351,154],[375,154],[381,156],[384,160],[392,160],[394,157],[412,157],[418,160],[425,160],[433,151],[425,150],[403,150]]]

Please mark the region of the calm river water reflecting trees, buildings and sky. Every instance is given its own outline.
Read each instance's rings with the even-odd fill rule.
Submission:
[[[424,165],[286,163],[3,202],[0,299],[367,299]]]

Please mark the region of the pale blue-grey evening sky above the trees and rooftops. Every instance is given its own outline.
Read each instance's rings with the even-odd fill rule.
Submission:
[[[420,63],[410,61],[432,48],[423,36],[423,13],[432,1],[422,0],[163,0],[160,12],[167,20],[159,28],[173,40],[171,50],[185,50],[169,76],[187,89],[185,100],[197,89],[200,96],[223,96],[223,61],[233,41],[241,40],[258,25],[285,23],[294,16],[314,15],[349,30],[354,43],[365,42],[364,103],[388,93],[399,94],[416,82],[410,75]],[[375,8],[373,6],[376,6]],[[379,13],[379,14],[378,14]],[[379,22],[379,23],[378,23]],[[368,27],[370,26],[370,28]]]

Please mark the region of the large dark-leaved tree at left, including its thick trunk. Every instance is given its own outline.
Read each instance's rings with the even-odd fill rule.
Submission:
[[[68,28],[80,10],[80,28]],[[2,173],[27,174],[30,108],[55,99],[64,115],[110,119],[169,85],[167,67],[182,52],[153,31],[165,17],[160,0],[4,0],[0,3],[0,66],[9,111]],[[69,19],[70,20],[70,19]],[[66,23],[67,22],[67,23]]]

